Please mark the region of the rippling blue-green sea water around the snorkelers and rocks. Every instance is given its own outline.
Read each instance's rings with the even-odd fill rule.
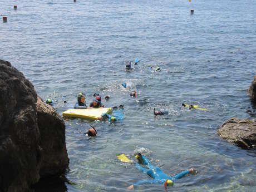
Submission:
[[[60,115],[80,91],[87,104],[99,92],[110,95],[105,106],[125,105],[125,119],[115,124],[65,120],[66,177],[73,184],[49,191],[129,191],[149,178],[116,155],[135,160],[139,151],[170,175],[199,171],[170,191],[256,191],[255,150],[216,134],[231,117],[255,117],[247,95],[256,74],[255,9],[250,0],[2,0],[8,22],[0,22],[0,58],[22,71],[42,99],[52,97]],[[126,72],[125,62],[136,57],[139,65]],[[183,109],[183,102],[209,111]],[[169,115],[155,117],[154,107]],[[84,134],[89,125],[96,138]]]

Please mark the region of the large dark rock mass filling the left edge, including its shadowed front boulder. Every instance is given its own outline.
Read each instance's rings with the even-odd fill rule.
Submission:
[[[21,72],[0,60],[0,191],[28,191],[67,166],[63,120]]]

